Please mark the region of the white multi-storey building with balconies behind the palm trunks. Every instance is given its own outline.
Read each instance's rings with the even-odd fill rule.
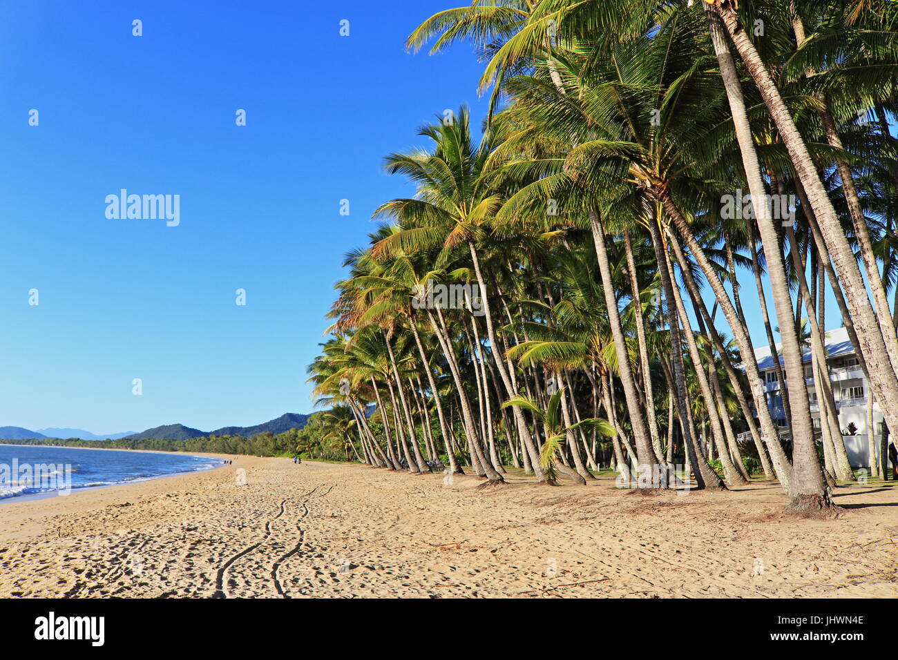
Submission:
[[[858,355],[848,336],[848,330],[839,328],[829,330],[824,338],[826,349],[826,365],[829,370],[830,383],[832,383],[832,395],[836,403],[836,415],[839,419],[839,428],[845,440],[845,450],[848,453],[849,462],[853,467],[869,467],[869,451],[867,443],[867,392],[869,385],[860,368]],[[782,365],[782,348],[777,345],[779,364]],[[754,351],[758,370],[764,380],[764,388],[767,394],[767,405],[770,416],[775,424],[780,427],[788,426],[786,413],[783,409],[782,393],[777,377],[777,371],[770,356],[770,347],[756,348]],[[820,401],[817,400],[817,392],[814,387],[814,372],[811,367],[811,348],[806,347],[803,356],[805,367],[805,383],[807,383],[808,396],[811,400],[811,418],[814,429],[820,429]],[[783,370],[785,373],[785,369]],[[879,408],[879,402],[873,404],[873,426],[876,429],[876,446],[880,440],[883,421],[883,413]],[[851,431],[854,431],[852,435]]]

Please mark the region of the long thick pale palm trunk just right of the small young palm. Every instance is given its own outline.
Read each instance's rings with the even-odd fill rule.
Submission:
[[[640,483],[654,482],[658,458],[652,447],[651,436],[648,433],[646,418],[639,407],[639,397],[636,389],[636,381],[633,378],[633,370],[629,365],[629,355],[626,339],[621,326],[621,313],[618,311],[617,300],[614,297],[611,264],[608,260],[608,250],[605,246],[605,230],[602,217],[593,208],[589,209],[589,224],[593,233],[596,258],[599,262],[599,275],[602,278],[602,289],[605,297],[605,306],[608,312],[608,321],[612,329],[614,349],[617,352],[619,363],[619,375],[623,385],[624,397],[627,400],[630,426],[633,429],[633,440],[636,443],[638,472],[643,478]],[[648,479],[646,478],[648,477]],[[666,488],[664,484],[653,483],[655,488]]]

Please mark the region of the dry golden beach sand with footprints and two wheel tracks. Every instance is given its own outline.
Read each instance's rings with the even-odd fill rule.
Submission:
[[[235,479],[245,470],[246,485]],[[240,457],[0,504],[0,596],[898,596],[898,489],[639,496]]]

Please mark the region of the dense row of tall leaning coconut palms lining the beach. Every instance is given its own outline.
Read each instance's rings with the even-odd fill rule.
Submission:
[[[387,156],[417,192],[348,253],[310,374],[358,460],[636,488],[675,488],[682,460],[692,488],[758,471],[791,509],[831,507],[853,475],[828,293],[872,398],[898,400],[896,29],[885,0],[475,0],[423,22],[409,48],[477,49],[489,117],[440,115]]]

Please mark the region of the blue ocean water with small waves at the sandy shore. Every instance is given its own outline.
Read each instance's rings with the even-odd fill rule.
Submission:
[[[0,444],[0,502],[209,470],[222,464],[220,459],[184,453]]]

